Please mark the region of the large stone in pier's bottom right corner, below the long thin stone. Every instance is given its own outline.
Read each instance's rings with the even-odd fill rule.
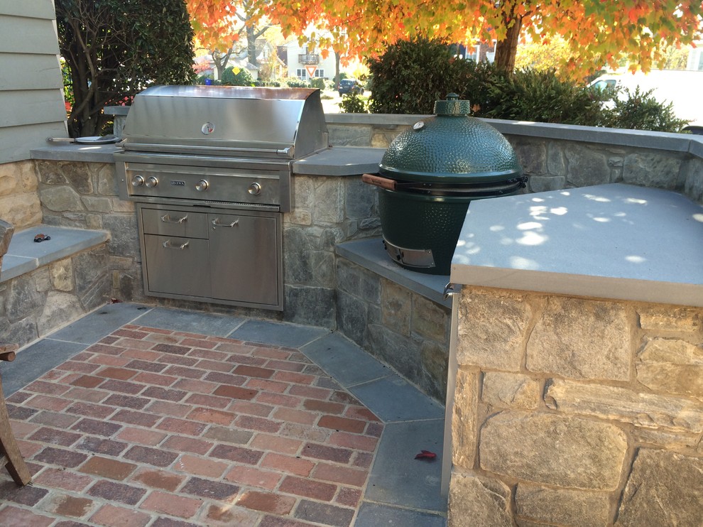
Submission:
[[[703,460],[640,449],[628,477],[616,526],[699,526]]]

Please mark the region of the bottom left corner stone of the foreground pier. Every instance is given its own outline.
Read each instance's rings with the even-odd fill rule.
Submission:
[[[511,490],[496,479],[452,471],[447,527],[512,527]]]

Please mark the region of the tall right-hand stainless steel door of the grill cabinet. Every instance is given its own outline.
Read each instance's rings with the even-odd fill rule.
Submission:
[[[275,217],[208,214],[212,296],[277,305],[280,240]]]

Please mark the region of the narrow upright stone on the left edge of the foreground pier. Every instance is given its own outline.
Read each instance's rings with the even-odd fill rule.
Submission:
[[[459,368],[452,413],[452,463],[473,469],[476,463],[479,421],[479,373]]]

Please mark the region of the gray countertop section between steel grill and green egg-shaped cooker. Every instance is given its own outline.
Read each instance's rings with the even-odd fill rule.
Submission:
[[[378,172],[386,150],[361,146],[332,146],[293,163],[293,175],[359,175]]]

